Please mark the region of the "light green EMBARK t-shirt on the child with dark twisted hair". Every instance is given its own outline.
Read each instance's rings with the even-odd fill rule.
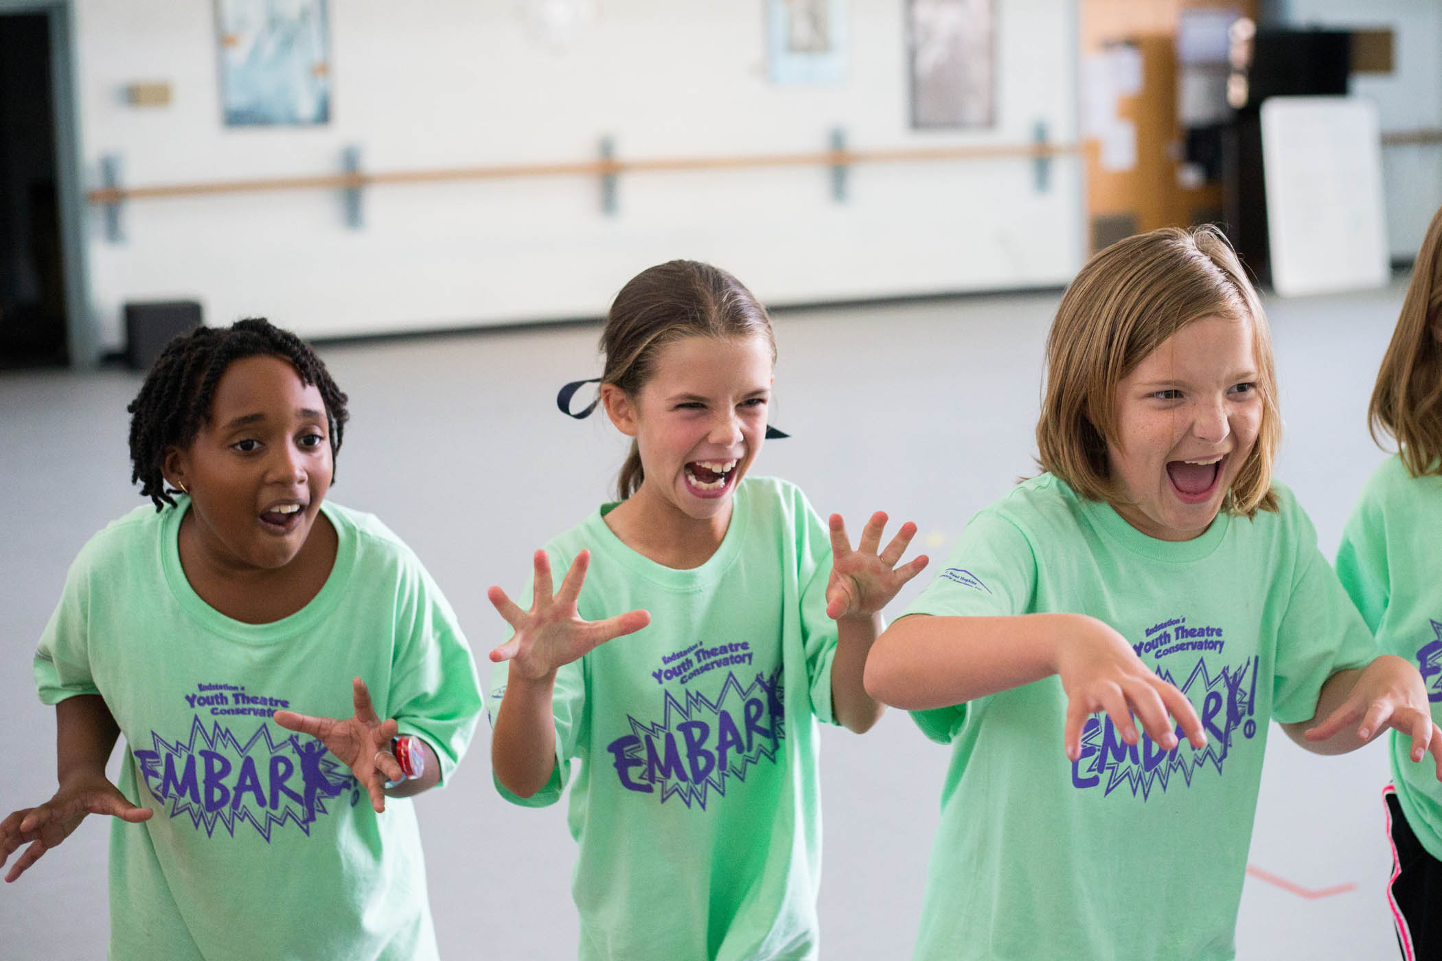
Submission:
[[[120,790],[156,811],[111,820],[110,957],[434,958],[412,801],[376,814],[324,745],[270,718],[349,718],[360,677],[448,777],[483,707],[450,605],[381,522],[326,501],[339,547],[320,592],[234,621],[186,581],[186,509],[137,507],[95,535],[35,656],[45,703],[105,699]]]

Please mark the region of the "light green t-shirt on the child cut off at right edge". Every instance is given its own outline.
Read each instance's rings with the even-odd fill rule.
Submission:
[[[1384,654],[1410,661],[1442,725],[1442,477],[1412,477],[1400,457],[1373,473],[1343,530],[1337,575]],[[1407,826],[1442,859],[1442,784],[1412,738],[1392,732],[1392,778]],[[1438,908],[1442,911],[1442,906]]]

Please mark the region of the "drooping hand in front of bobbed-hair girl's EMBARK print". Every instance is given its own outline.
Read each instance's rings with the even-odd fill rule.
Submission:
[[[1105,712],[1122,741],[1132,746],[1141,741],[1138,720],[1152,743],[1164,751],[1181,743],[1178,729],[1197,751],[1207,746],[1201,719],[1187,694],[1162,680],[1142,663],[1126,638],[1096,618],[1086,618],[1084,628],[1061,645],[1057,676],[1067,692],[1063,743],[1071,761],[1082,756],[1082,729],[1096,712]]]

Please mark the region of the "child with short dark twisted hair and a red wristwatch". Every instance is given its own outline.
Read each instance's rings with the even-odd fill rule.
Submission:
[[[415,555],[324,500],[346,395],[242,320],[173,340],[130,412],[154,509],[85,545],[40,638],[59,790],[0,821],[6,880],[108,814],[111,958],[434,958],[405,798],[483,702]]]

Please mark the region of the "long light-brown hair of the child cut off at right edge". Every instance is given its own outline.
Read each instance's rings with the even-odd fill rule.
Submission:
[[[1381,434],[1397,439],[1409,474],[1442,475],[1442,209],[1412,267],[1367,421],[1379,445]]]

